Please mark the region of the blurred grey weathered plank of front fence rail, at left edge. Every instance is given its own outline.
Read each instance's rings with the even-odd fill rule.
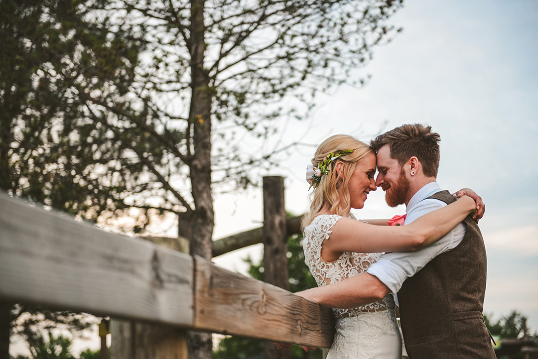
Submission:
[[[0,298],[165,324],[193,322],[193,260],[0,195]]]

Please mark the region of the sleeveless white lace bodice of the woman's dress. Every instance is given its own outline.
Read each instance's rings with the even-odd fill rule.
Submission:
[[[342,216],[336,214],[322,214],[314,218],[312,223],[305,228],[303,250],[305,251],[305,263],[316,279],[318,286],[340,282],[343,279],[356,276],[365,272],[372,263],[376,262],[381,253],[355,253],[343,252],[336,261],[325,262],[321,259],[321,245],[324,240],[329,240],[331,228]],[[391,294],[383,300],[376,301],[366,306],[353,309],[336,309],[336,318],[355,317],[360,313],[372,313],[394,308],[394,299]]]

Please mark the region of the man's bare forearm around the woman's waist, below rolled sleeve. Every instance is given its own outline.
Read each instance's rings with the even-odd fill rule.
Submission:
[[[362,273],[342,282],[295,293],[326,307],[349,309],[383,299],[391,290],[377,277]]]

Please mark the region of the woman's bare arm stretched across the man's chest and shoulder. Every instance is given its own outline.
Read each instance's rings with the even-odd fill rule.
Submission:
[[[475,201],[468,196],[455,203],[417,218],[406,226],[373,226],[350,218],[341,218],[331,228],[329,240],[323,242],[322,256],[341,252],[401,252],[429,246],[443,238],[459,222],[475,211]]]

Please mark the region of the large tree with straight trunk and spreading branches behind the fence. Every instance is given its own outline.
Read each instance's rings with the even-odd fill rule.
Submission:
[[[176,216],[210,258],[214,189],[255,183],[286,148],[245,136],[363,84],[350,71],[402,1],[2,1],[0,186],[134,233]],[[210,356],[209,335],[191,339]]]

